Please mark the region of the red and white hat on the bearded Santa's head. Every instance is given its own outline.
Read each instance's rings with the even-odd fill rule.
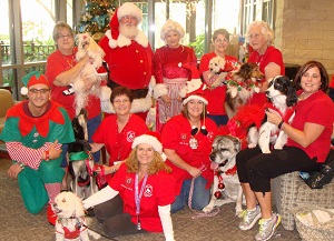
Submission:
[[[111,37],[112,39],[118,39],[119,36],[119,20],[125,16],[134,16],[137,18],[138,23],[143,20],[141,10],[131,2],[125,2],[119,8],[116,9],[112,18],[110,19],[109,26],[111,29]]]

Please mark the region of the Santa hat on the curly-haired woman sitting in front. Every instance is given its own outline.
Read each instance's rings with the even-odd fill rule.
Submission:
[[[141,134],[135,138],[131,148],[135,149],[138,144],[150,144],[155,151],[159,152],[163,161],[166,161],[166,154],[163,152],[163,144],[160,142],[160,135],[158,132],[148,131],[146,134]]]

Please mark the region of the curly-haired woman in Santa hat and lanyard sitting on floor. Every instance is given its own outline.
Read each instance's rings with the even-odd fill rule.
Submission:
[[[164,232],[174,241],[170,204],[175,200],[175,179],[165,163],[166,155],[157,132],[136,137],[130,155],[121,163],[108,185],[84,200],[110,237],[143,232]]]

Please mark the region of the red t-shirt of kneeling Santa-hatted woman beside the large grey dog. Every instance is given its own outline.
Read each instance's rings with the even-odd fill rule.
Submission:
[[[200,121],[200,125],[204,122]],[[212,143],[214,138],[217,134],[216,123],[206,118],[205,119],[206,130],[208,131],[207,135],[204,135],[202,132],[198,132],[195,138],[198,142],[197,149],[191,149],[189,147],[189,140],[191,138],[191,127],[183,114],[171,118],[161,130],[161,142],[165,149],[175,150],[176,153],[187,163],[195,168],[205,167],[205,170],[202,172],[202,175],[208,181],[208,185],[214,180],[214,172],[210,169],[210,159],[209,154],[212,152]],[[177,194],[179,194],[183,181],[186,179],[191,179],[193,177],[185,170],[176,167],[170,161],[166,162],[173,169],[171,174],[175,177],[177,182]],[[208,187],[207,185],[207,187]]]

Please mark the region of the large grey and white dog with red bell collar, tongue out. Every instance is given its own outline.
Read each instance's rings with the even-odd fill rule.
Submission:
[[[210,153],[212,169],[215,171],[212,199],[204,212],[215,207],[236,202],[235,213],[243,211],[243,190],[236,170],[236,154],[240,150],[240,141],[232,135],[217,135]]]

